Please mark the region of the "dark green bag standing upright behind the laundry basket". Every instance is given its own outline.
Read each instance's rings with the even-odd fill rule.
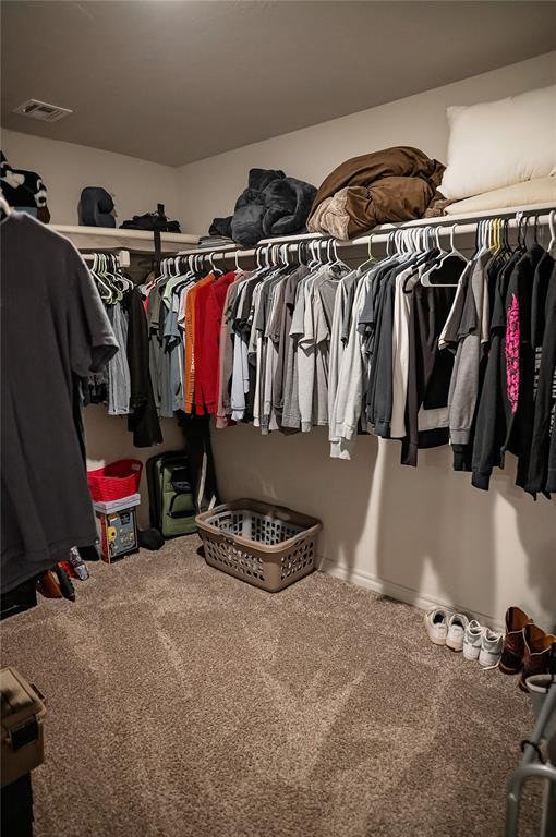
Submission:
[[[195,499],[188,457],[181,451],[160,453],[147,461],[150,525],[162,537],[196,532]]]

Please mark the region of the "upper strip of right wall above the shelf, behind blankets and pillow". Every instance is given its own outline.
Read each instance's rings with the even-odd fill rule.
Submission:
[[[430,157],[446,162],[448,105],[488,101],[555,82],[556,52],[549,52],[378,108],[192,162],[179,169],[180,215],[188,218],[190,229],[206,232],[215,216],[231,215],[235,198],[245,189],[250,168],[283,169],[287,174],[318,186],[336,166],[349,157],[391,145],[413,145]],[[326,96],[326,90],[315,90],[315,96]],[[256,104],[253,107],[256,108]]]

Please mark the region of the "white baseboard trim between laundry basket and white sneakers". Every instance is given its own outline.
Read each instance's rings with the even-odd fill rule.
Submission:
[[[476,619],[481,624],[487,624],[495,631],[504,632],[506,630],[503,622],[488,614],[481,614],[479,610],[470,610],[469,607],[463,607],[462,605],[448,602],[447,599],[432,598],[412,587],[406,587],[402,584],[396,584],[392,581],[385,581],[364,570],[355,570],[350,567],[345,567],[336,563],[336,561],[333,561],[329,558],[322,562],[319,570],[321,572],[326,572],[328,575],[334,575],[335,579],[351,582],[358,587],[372,590],[373,593],[395,598],[398,602],[404,602],[407,605],[413,605],[413,607],[419,607],[421,610],[430,610],[432,607],[438,606],[449,607],[456,610],[461,610],[472,619]]]

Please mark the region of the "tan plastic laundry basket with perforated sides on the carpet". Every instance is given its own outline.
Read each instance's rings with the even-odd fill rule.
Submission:
[[[283,506],[233,500],[197,514],[205,560],[277,593],[315,569],[319,520]]]

